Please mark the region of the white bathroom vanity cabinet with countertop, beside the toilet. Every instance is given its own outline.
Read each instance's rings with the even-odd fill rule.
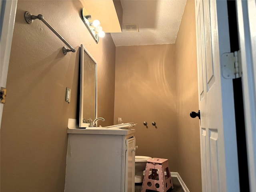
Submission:
[[[68,130],[65,192],[134,192],[135,130]]]

